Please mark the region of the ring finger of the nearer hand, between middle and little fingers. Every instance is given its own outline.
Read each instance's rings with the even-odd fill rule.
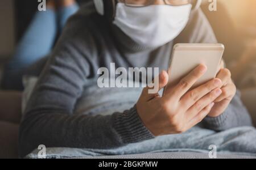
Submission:
[[[202,109],[207,107],[210,103],[213,103],[214,100],[217,99],[222,93],[220,88],[216,88],[208,95],[202,97],[199,101],[197,101],[191,108],[188,109],[189,114],[186,115],[187,120],[191,120],[191,118],[195,117],[197,113],[201,112]]]

